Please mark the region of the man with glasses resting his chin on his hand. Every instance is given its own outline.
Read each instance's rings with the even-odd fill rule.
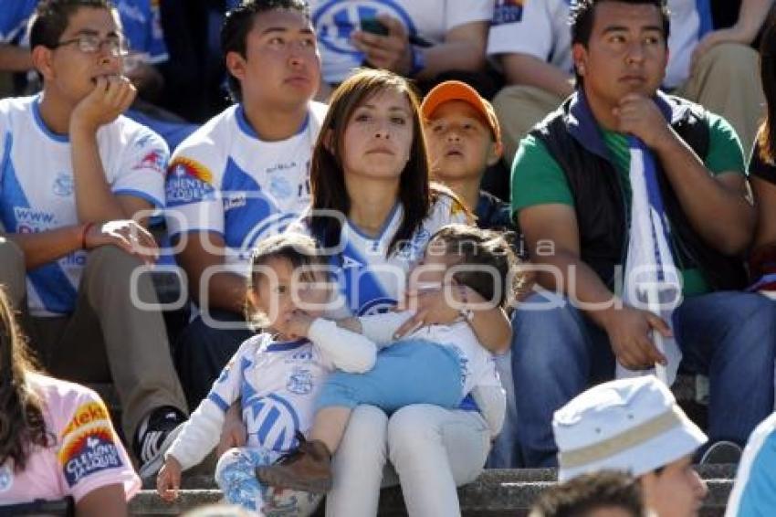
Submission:
[[[41,1],[30,44],[42,93],[0,100],[0,284],[49,372],[112,380],[146,465],[185,411],[162,315],[142,310],[152,281],[136,275],[158,254],[144,226],[163,206],[169,152],[121,115],[136,90],[108,0]]]

